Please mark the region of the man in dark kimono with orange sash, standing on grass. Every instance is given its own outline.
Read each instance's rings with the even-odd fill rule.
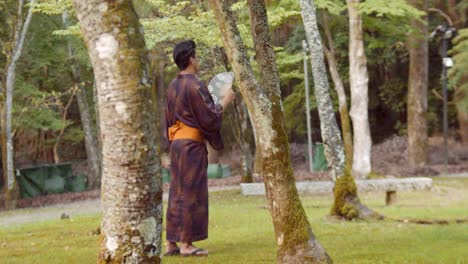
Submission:
[[[223,109],[234,100],[229,89],[215,104],[207,87],[198,80],[199,62],[192,40],[174,47],[180,69],[167,90],[165,136],[170,151],[171,183],[166,213],[166,256],[206,256],[192,243],[208,238],[208,158],[205,141],[221,150]],[[180,247],[177,246],[180,242]]]

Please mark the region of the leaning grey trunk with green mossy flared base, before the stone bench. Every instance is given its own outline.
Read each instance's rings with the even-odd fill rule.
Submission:
[[[300,3],[310,56],[312,58],[312,74],[320,116],[320,130],[325,143],[325,155],[332,167],[332,178],[335,181],[333,188],[334,203],[331,214],[346,219],[377,217],[378,214],[361,204],[354,179],[351,177],[349,169],[345,168],[343,142],[330,98],[330,88],[323,58],[322,40],[317,26],[315,5],[312,0],[301,0]]]

